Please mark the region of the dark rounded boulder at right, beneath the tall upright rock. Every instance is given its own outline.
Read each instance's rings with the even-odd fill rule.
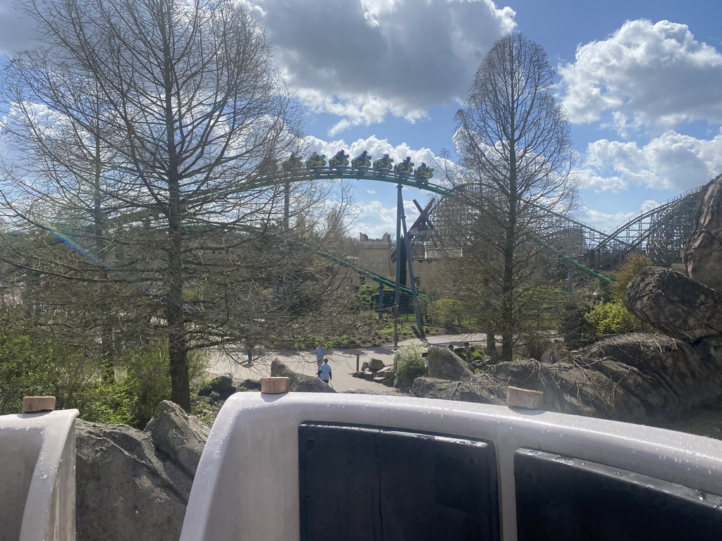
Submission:
[[[632,280],[625,306],[674,338],[722,338],[722,291],[667,268],[647,268]]]

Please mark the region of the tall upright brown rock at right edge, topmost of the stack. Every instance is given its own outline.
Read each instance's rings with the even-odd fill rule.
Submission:
[[[722,175],[705,188],[684,265],[690,278],[722,291]]]

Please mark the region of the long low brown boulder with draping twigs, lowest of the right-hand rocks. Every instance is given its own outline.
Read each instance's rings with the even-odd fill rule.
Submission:
[[[502,362],[456,382],[419,377],[411,391],[419,397],[503,405],[507,387],[521,387],[544,392],[545,410],[651,423],[679,418],[719,395],[718,346],[711,341],[692,346],[665,335],[619,335],[554,364]]]

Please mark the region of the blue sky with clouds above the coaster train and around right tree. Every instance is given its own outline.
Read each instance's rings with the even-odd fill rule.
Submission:
[[[547,51],[580,155],[575,218],[611,232],[722,172],[719,0],[238,0],[253,9],[303,105],[308,153],[454,154],[454,114],[496,40]],[[32,46],[0,0],[0,55]],[[396,229],[396,188],[355,181],[349,232]],[[404,188],[410,226],[430,194]]]

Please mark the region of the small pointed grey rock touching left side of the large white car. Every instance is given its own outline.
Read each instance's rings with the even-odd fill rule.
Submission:
[[[196,468],[208,439],[208,434],[202,433],[198,425],[203,423],[197,418],[195,423],[191,422],[181,406],[170,400],[163,400],[144,432],[153,440],[157,452],[168,457],[192,478],[196,475]]]

